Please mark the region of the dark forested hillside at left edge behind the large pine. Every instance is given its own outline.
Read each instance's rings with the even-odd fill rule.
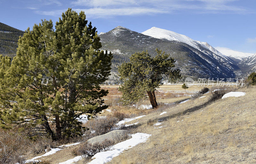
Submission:
[[[21,30],[0,22],[0,54],[16,56],[17,42],[23,33]]]

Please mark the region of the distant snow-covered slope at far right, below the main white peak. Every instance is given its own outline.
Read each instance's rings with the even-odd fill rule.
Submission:
[[[228,57],[234,57],[239,60],[243,60],[245,57],[250,57],[253,55],[251,53],[234,51],[230,48],[225,48],[225,47],[215,47],[215,49],[217,49],[219,52],[221,52],[222,54],[224,54]]]

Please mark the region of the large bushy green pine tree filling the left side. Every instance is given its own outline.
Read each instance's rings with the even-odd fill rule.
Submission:
[[[96,28],[85,19],[68,9],[55,31],[51,20],[42,20],[20,37],[12,62],[0,56],[2,127],[69,138],[81,135],[80,115],[107,108],[100,84],[110,75],[112,54],[99,50]]]

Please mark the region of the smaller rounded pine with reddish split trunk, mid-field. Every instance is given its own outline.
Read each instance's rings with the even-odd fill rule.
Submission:
[[[163,85],[163,76],[169,78],[180,77],[180,70],[174,70],[175,60],[170,54],[165,54],[156,48],[156,56],[151,57],[148,51],[135,53],[130,57],[130,62],[123,63],[118,68],[119,76],[123,80],[119,88],[124,104],[135,103],[146,97],[153,108],[157,107],[155,91]]]

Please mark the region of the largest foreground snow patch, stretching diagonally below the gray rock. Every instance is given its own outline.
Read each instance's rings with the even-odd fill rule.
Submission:
[[[122,153],[124,150],[132,148],[133,146],[136,146],[142,142],[146,142],[146,140],[151,136],[151,134],[146,133],[135,133],[132,134],[131,139],[127,139],[123,142],[120,142],[116,145],[114,145],[111,150],[100,152],[95,154],[92,157],[92,161],[88,164],[103,164],[107,163],[110,160],[112,160],[114,157],[118,156],[120,153]]]

